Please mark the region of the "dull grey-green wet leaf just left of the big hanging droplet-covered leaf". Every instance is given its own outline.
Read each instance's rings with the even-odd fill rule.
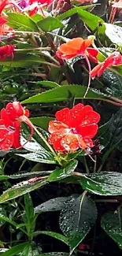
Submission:
[[[72,198],[76,198],[78,195],[71,195],[68,197],[59,197],[53,198],[46,202],[43,202],[41,205],[35,207],[35,213],[44,213],[52,212],[57,210],[62,210],[65,207],[65,204],[68,201],[71,201]]]

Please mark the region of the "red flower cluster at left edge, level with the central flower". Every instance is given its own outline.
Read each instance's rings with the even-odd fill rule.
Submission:
[[[28,109],[24,109],[20,102],[8,103],[6,109],[1,110],[0,119],[0,149],[9,150],[10,147],[19,148],[20,118],[28,117]]]

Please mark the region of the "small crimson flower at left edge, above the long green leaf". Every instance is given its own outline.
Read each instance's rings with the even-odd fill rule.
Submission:
[[[4,60],[5,56],[11,57],[14,53],[14,46],[12,45],[6,45],[0,47],[0,59]]]

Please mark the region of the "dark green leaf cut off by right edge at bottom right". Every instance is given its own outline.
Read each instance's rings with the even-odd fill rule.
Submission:
[[[122,250],[122,210],[118,213],[105,213],[102,216],[102,228]]]

